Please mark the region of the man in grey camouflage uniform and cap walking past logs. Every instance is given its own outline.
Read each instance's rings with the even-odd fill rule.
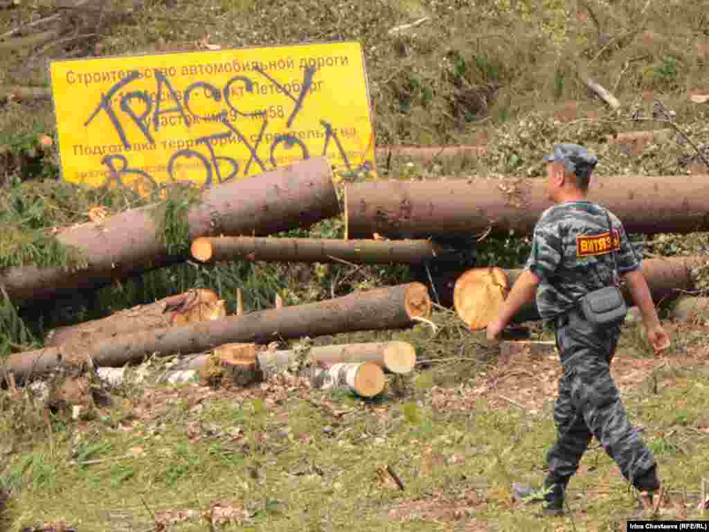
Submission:
[[[659,489],[657,466],[652,452],[630,425],[610,375],[621,324],[594,326],[576,303],[588,292],[612,284],[613,255],[618,273],[642,311],[647,338],[656,352],[669,345],[669,338],[659,323],[640,271],[641,259],[623,224],[610,211],[586,201],[596,157],[579,145],[557,144],[545,161],[547,194],[555,205],[537,221],[525,272],[487,331],[489,340],[498,340],[510,319],[536,296],[542,319],[554,324],[564,370],[554,404],[558,439],[547,454],[545,489],[523,489],[519,494],[545,501],[544,514],[560,514],[566,484],[596,436],[623,477],[652,501],[652,492]],[[608,231],[609,218],[613,231]]]

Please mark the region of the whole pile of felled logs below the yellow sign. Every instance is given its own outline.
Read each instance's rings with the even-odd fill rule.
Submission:
[[[618,214],[629,233],[709,231],[708,177],[598,177],[589,196]],[[270,237],[340,214],[330,165],[319,157],[206,189],[187,216],[189,254],[168,252],[152,216],[157,207],[133,209],[57,233],[60,243],[82,252],[84,264],[11,267],[0,272],[0,285],[13,302],[24,304],[192,258],[206,264],[250,260],[429,265],[450,251],[440,243],[445,238],[438,237],[530,234],[550,205],[542,182],[519,179],[363,182],[345,187],[344,240]],[[691,271],[706,262],[707,257],[645,260],[643,272],[654,301],[671,301],[691,291]],[[459,317],[472,330],[484,328],[519,273],[474,267],[452,279]],[[683,302],[676,308],[691,314],[688,308],[704,303]],[[202,353],[190,370],[216,365],[222,373],[241,368],[245,373],[239,375],[253,376],[288,366],[296,358],[293,352],[264,348],[274,340],[406,328],[426,321],[431,307],[428,287],[420,282],[233,316],[226,315],[217,294],[196,290],[52,331],[45,348],[11,355],[0,367],[0,377],[12,375],[23,382],[65,365],[123,367],[152,353]],[[515,321],[538,319],[530,304]],[[236,347],[223,347],[229,345]],[[349,387],[371,397],[384,387],[384,372],[410,371],[415,353],[408,344],[332,345],[314,348],[308,360],[314,385]]]

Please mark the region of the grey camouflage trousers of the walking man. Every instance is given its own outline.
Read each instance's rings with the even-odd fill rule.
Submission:
[[[564,375],[554,403],[558,439],[547,454],[549,475],[568,482],[595,436],[623,477],[640,488],[633,481],[651,470],[654,478],[655,461],[630,425],[610,375],[620,326],[596,328],[577,311],[557,318],[555,326]]]

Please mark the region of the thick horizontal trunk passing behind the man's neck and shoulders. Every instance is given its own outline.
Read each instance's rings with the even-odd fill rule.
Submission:
[[[588,199],[607,206],[627,233],[709,231],[709,175],[592,177]],[[552,206],[543,179],[465,179],[349,184],[345,239],[373,233],[531,234]]]

